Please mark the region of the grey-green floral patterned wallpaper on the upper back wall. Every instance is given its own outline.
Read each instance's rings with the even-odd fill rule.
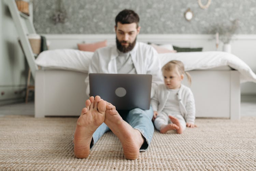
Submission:
[[[208,0],[201,0],[206,4]],[[48,34],[111,34],[119,11],[133,9],[143,34],[210,34],[239,19],[237,33],[256,33],[256,0],[33,0],[34,27]],[[194,13],[188,22],[184,12]]]

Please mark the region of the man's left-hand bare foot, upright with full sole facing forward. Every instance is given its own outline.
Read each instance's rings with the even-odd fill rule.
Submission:
[[[86,100],[85,108],[76,122],[74,133],[74,153],[77,158],[86,158],[90,154],[90,143],[95,130],[104,122],[106,101],[93,96]]]

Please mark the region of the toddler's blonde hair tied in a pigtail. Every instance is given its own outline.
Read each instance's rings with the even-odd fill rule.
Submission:
[[[179,75],[186,74],[188,82],[189,82],[189,85],[191,85],[191,76],[190,76],[190,74],[188,72],[185,71],[184,64],[182,63],[182,61],[179,61],[179,60],[171,60],[171,61],[169,61],[168,63],[166,63],[166,65],[164,65],[162,67],[162,72],[163,71],[173,71],[175,69],[176,69],[176,71],[178,71]]]

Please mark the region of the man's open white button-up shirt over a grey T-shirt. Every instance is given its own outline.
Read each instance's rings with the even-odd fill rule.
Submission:
[[[154,96],[155,88],[162,84],[161,65],[158,54],[155,49],[142,42],[136,42],[134,48],[130,51],[131,59],[137,74],[152,75],[151,97]],[[116,45],[97,49],[91,58],[89,73],[117,73],[116,57],[118,56]],[[89,96],[89,77],[85,79],[86,94]]]

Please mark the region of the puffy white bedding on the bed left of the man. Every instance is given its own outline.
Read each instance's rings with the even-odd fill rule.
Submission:
[[[44,68],[75,70],[87,73],[92,56],[93,52],[77,49],[55,49],[41,52],[35,63]]]

